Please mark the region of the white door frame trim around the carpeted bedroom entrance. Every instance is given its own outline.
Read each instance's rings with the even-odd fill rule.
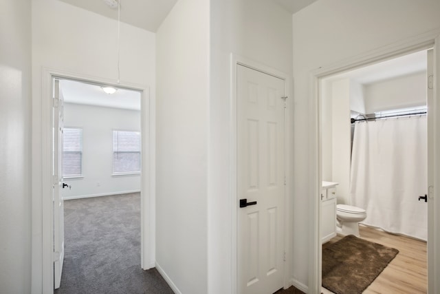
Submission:
[[[148,87],[142,85],[130,85],[130,84],[118,84],[114,85],[111,81],[99,78],[85,78],[84,76],[67,74],[65,72],[59,72],[56,70],[45,69],[43,70],[43,107],[42,107],[42,118],[43,118],[43,142],[47,142],[43,145],[43,157],[41,162],[42,169],[42,191],[44,197],[41,202],[41,217],[42,224],[41,230],[43,235],[43,244],[41,246],[42,252],[42,266],[43,271],[41,271],[42,276],[42,288],[44,293],[52,293],[54,290],[54,205],[52,200],[52,190],[54,185],[54,180],[52,176],[53,162],[53,152],[54,147],[50,142],[52,142],[52,128],[53,128],[53,118],[52,118],[52,106],[53,106],[53,81],[55,79],[65,79],[70,81],[81,81],[83,83],[88,83],[92,85],[110,85],[117,87],[119,89],[129,89],[140,92],[141,96],[141,106],[140,106],[140,116],[141,125],[140,133],[142,134],[142,150],[141,150],[141,185],[140,185],[140,210],[141,210],[141,267],[142,269],[151,269],[154,267],[154,255],[155,255],[155,240],[154,240],[154,211],[155,207],[151,205],[154,203],[154,185],[151,180],[154,176],[155,165],[154,165],[154,137],[153,129],[154,125],[151,122],[151,101],[149,98]],[[57,185],[58,186],[58,185]]]

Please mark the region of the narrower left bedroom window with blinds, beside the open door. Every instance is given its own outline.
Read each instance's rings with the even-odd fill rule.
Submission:
[[[63,177],[83,176],[83,129],[63,129]]]

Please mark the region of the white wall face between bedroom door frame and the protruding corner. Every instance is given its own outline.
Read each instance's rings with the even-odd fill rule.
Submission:
[[[179,0],[157,30],[156,264],[207,293],[209,2]]]

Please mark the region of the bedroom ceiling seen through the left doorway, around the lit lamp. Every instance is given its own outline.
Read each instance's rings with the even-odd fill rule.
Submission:
[[[114,94],[106,94],[100,85],[71,80],[61,80],[60,88],[65,103],[140,110],[138,91],[118,88]]]

